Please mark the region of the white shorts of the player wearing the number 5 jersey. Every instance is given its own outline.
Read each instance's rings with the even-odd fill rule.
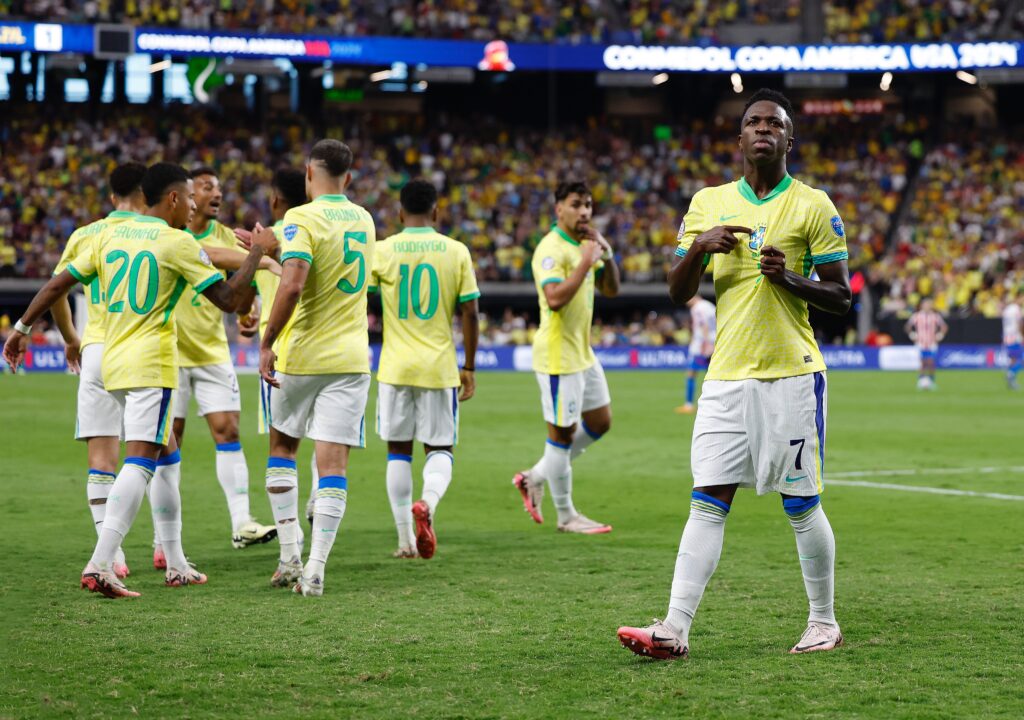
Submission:
[[[366,446],[365,415],[370,376],[274,376],[281,387],[269,387],[270,424],[290,437],[308,437],[350,448]]]

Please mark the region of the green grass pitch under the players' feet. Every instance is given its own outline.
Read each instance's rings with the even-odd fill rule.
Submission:
[[[1024,717],[1024,502],[1014,500],[829,488],[847,645],[791,657],[807,613],[793,533],[776,498],[740,494],[692,658],[655,664],[621,648],[617,626],[666,610],[692,418],[672,413],[679,375],[608,380],[612,431],[574,475],[578,507],[611,522],[610,536],[557,534],[550,504],[548,523],[528,520],[510,477],[542,450],[536,383],[481,374],[433,560],[390,557],[374,436],[350,464],[325,596],[271,589],[276,544],[230,548],[213,444],[190,418],[184,540],[210,583],[162,586],[146,506],[125,543],[142,597],[113,602],[78,589],[95,536],[85,449],[70,439],[75,379],[0,378],[0,716]],[[1024,496],[1024,396],[997,373],[939,382],[926,394],[905,374],[833,373],[826,479]],[[255,378],[242,383],[253,507],[268,521]],[[421,466],[418,454],[417,475]],[[985,467],[1017,469],[975,469]],[[922,472],[844,475],[907,468]]]

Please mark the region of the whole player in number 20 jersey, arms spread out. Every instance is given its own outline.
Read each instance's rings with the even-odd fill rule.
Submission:
[[[225,282],[184,227],[195,209],[191,180],[177,165],[157,163],[142,178],[145,214],[110,227],[71,258],[67,269],[33,298],[4,346],[16,368],[25,356],[32,323],[75,283],[100,283],[106,299],[103,387],[124,418],[126,453],[106,502],[106,514],[82,587],[108,597],[134,593],[113,571],[118,547],[131,527],[153,479],[160,538],[167,554],[166,584],[203,584],[206,576],[185,560],[181,548],[180,456],[171,434],[172,393],[178,381],[174,306],[187,286],[217,307],[234,311],[272,234],[254,238],[246,263]]]

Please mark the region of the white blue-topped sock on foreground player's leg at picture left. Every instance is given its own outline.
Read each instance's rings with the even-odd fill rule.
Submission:
[[[690,624],[700,604],[708,581],[722,556],[725,540],[725,518],[729,506],[702,493],[693,493],[690,516],[679,541],[676,571],[672,577],[669,615],[665,624],[689,643]]]

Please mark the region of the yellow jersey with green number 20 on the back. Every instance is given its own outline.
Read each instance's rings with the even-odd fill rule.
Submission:
[[[106,298],[103,387],[177,387],[175,305],[188,286],[202,293],[223,280],[191,236],[136,215],[82,247],[68,270]]]

